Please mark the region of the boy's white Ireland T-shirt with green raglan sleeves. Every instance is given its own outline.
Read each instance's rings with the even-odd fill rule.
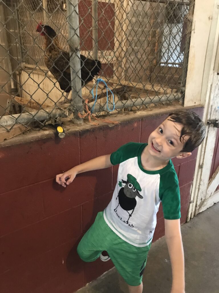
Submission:
[[[176,172],[170,160],[158,171],[141,165],[147,144],[130,142],[111,154],[113,165],[119,164],[117,185],[112,200],[104,210],[108,226],[124,241],[138,247],[152,241],[156,214],[162,202],[165,219],[180,218],[180,192]]]

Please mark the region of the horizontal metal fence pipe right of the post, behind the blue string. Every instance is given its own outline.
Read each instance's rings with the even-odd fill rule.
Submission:
[[[149,105],[151,104],[151,102],[153,102],[154,104],[160,103],[160,102],[166,102],[166,101],[172,101],[172,100],[180,100],[182,98],[182,95],[180,93],[172,93],[169,95],[160,95],[160,96],[154,96],[154,97],[147,97],[145,100],[142,100],[142,98],[138,98],[138,99],[130,99],[130,100],[123,100],[120,101],[118,100],[115,104],[115,109],[122,109],[122,108],[132,108],[135,106],[142,106],[142,105]],[[93,107],[94,102],[88,103],[89,107]],[[108,108],[110,110],[113,109],[113,104],[112,102],[110,102],[110,104],[108,104]],[[98,112],[102,112],[102,111],[106,111],[108,112],[107,109],[107,104],[95,104],[94,108],[93,108],[93,113],[98,113]]]

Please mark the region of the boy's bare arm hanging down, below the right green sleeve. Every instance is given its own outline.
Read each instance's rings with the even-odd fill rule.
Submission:
[[[185,293],[185,269],[180,219],[165,219],[165,238],[172,267],[171,293]]]

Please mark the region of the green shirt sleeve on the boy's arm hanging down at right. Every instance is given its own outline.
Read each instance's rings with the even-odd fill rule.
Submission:
[[[161,177],[159,196],[163,206],[164,219],[180,219],[180,189],[175,170]]]

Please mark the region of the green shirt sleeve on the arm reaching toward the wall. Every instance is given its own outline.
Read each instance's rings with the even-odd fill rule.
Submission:
[[[146,144],[138,142],[128,142],[121,146],[117,151],[114,151],[110,156],[110,162],[112,165],[120,164],[130,158],[138,156],[138,151]]]

